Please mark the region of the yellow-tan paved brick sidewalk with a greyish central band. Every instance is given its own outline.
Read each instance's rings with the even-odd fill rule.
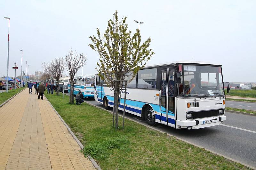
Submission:
[[[0,108],[0,170],[95,169],[47,100],[23,90]]]

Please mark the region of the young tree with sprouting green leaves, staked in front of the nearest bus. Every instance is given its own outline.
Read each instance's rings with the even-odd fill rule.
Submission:
[[[107,30],[101,34],[97,28],[97,37],[90,36],[92,44],[89,46],[96,51],[100,60],[97,62],[96,70],[102,79],[108,82],[108,87],[112,92],[116,91],[115,103],[116,110],[116,129],[118,128],[118,106],[121,101],[122,84],[117,82],[115,87],[114,80],[124,80],[132,74],[127,84],[136,76],[139,69],[145,67],[146,63],[154,52],[149,48],[151,39],[148,38],[141,44],[140,30],[136,30],[135,34],[128,30],[126,17],[118,21],[117,11],[114,13],[114,20],[108,20]],[[104,75],[104,76],[103,76]],[[115,106],[114,106],[115,107]]]

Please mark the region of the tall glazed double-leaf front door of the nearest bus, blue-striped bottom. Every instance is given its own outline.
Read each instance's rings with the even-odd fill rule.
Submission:
[[[161,70],[161,99],[160,99],[160,116],[161,123],[175,127],[174,116],[174,75],[173,68]]]

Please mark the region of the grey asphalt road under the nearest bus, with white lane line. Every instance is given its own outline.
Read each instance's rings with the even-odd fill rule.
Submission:
[[[85,102],[103,108],[94,100]],[[228,112],[225,115],[227,120],[223,125],[203,129],[174,129],[162,124],[156,124],[155,128],[256,168],[256,117]],[[126,117],[147,124],[130,113]]]

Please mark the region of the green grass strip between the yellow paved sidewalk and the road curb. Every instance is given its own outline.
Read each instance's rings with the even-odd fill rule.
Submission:
[[[102,169],[250,169],[127,119],[124,130],[114,131],[108,111],[68,104],[61,93],[45,96]]]

